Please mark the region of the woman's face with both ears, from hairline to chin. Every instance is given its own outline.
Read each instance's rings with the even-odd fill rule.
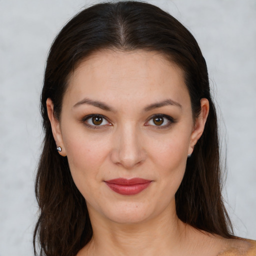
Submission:
[[[206,101],[194,122],[181,69],[157,52],[104,50],[81,62],[59,122],[47,107],[90,217],[135,223],[175,212]]]

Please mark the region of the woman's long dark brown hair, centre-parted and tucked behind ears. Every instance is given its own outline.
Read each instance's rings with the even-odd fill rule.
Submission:
[[[76,65],[100,49],[158,51],[184,72],[193,117],[200,99],[209,101],[205,129],[187,159],[183,180],[175,194],[177,216],[185,223],[223,237],[231,237],[231,223],[221,197],[218,127],[211,100],[205,60],[191,33],[174,17],[143,2],[100,3],[75,15],[53,41],[45,67],[41,115],[45,137],[38,164],[35,193],[39,218],[34,230],[34,254],[74,256],[92,237],[81,193],[67,158],[56,152],[47,116],[51,98],[59,118],[68,76]]]

